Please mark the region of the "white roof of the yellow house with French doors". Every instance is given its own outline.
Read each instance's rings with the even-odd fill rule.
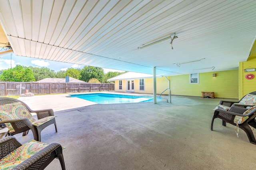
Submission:
[[[156,75],[156,77],[162,77],[160,75]],[[115,81],[115,80],[127,80],[127,79],[148,79],[153,78],[152,74],[144,74],[144,73],[135,73],[135,72],[127,72],[116,77],[112,77],[108,79],[108,81]]]

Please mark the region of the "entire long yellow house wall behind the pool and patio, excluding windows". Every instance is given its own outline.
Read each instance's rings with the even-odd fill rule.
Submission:
[[[215,73],[216,77],[212,77]],[[238,86],[238,76],[239,71],[228,70],[228,71],[215,71],[208,73],[199,73],[199,84],[189,83],[189,74],[187,75],[176,75],[168,76],[170,79],[170,89],[172,95],[184,95],[184,96],[202,96],[202,91],[214,92],[217,98],[229,98],[238,99],[239,98],[239,86]],[[256,80],[256,79],[255,79]],[[126,91],[126,80],[122,81],[123,88],[119,90],[119,81],[115,81],[116,89],[115,91],[125,92]],[[134,92],[135,93],[153,93],[153,79],[145,79],[145,90],[140,91],[139,89],[139,79],[134,79]],[[156,93],[160,94],[162,91],[168,88],[168,80],[165,77],[156,78]],[[254,90],[256,91],[256,89]],[[251,91],[250,91],[251,92]],[[250,93],[249,92],[249,93]],[[163,94],[168,95],[168,91]],[[247,94],[247,93],[246,93]]]

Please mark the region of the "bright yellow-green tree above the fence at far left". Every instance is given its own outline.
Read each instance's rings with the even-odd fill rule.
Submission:
[[[0,81],[35,81],[35,77],[30,68],[16,65],[14,68],[3,70]]]

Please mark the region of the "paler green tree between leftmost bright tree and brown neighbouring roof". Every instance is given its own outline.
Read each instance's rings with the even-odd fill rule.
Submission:
[[[54,77],[56,77],[56,73],[54,72],[54,70],[51,70],[47,67],[39,68],[39,67],[30,66],[29,68],[32,69],[33,75],[34,75],[36,81],[42,80],[42,79],[45,79],[45,78],[54,78]]]

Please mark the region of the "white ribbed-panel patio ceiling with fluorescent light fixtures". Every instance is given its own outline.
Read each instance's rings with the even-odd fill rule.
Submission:
[[[166,76],[238,69],[255,55],[255,8],[255,0],[2,0],[0,23],[15,55]]]

